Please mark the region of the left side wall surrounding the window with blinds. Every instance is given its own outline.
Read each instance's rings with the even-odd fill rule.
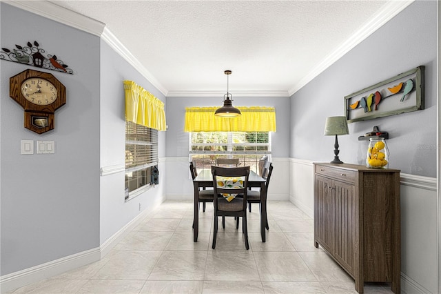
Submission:
[[[125,92],[123,80],[134,81],[165,102],[164,95],[150,84],[121,55],[101,41],[101,167],[124,166]],[[158,156],[165,156],[165,132],[158,134]],[[163,202],[165,164],[159,164],[160,184],[124,202],[124,171],[101,177],[100,243],[103,244],[142,212]],[[141,210],[139,209],[141,204]]]

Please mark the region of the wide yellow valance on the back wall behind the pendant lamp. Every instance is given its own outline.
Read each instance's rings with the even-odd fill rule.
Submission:
[[[216,117],[218,107],[185,108],[185,132],[276,132],[274,107],[237,107],[239,117]]]

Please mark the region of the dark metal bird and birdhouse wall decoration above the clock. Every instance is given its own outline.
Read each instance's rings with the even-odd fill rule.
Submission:
[[[63,60],[57,58],[57,55],[48,54],[46,50],[41,48],[37,41],[33,43],[28,41],[25,46],[16,44],[12,49],[1,48],[0,59],[28,66],[36,66],[37,68],[65,72],[71,75],[74,73]]]

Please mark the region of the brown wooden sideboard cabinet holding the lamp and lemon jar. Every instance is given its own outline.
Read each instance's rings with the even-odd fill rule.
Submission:
[[[314,164],[314,242],[355,280],[400,293],[400,170]]]

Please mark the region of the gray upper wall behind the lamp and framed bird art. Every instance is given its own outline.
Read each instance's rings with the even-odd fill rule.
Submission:
[[[324,136],[325,119],[345,115],[344,97],[426,66],[426,109],[349,124],[339,136],[340,159],[365,164],[368,141],[358,136],[379,126],[389,132],[389,167],[436,176],[437,106],[436,1],[416,1],[291,97],[290,156],[312,161],[334,158],[334,137]]]

